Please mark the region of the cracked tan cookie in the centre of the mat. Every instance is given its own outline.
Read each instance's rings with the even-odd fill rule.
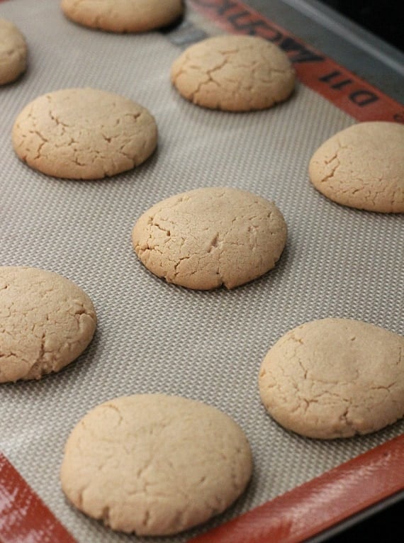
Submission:
[[[132,233],[145,267],[189,289],[233,289],[275,266],[286,223],[275,204],[247,191],[209,187],[167,198]]]

